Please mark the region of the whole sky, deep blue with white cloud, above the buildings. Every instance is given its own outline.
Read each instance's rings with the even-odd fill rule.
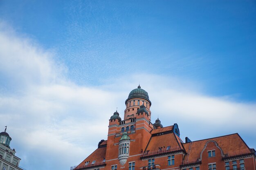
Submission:
[[[16,135],[11,145],[27,170],[46,156],[68,159],[64,148],[77,156],[40,168],[69,169],[106,139],[106,120],[116,107],[123,114],[140,82],[152,120],[179,124],[182,139],[238,132],[256,148],[256,129],[246,123],[256,118],[255,21],[253,0],[1,0],[0,125]],[[222,120],[218,128],[213,115]],[[86,141],[79,133],[90,121],[98,131]],[[27,137],[51,138],[59,147]]]

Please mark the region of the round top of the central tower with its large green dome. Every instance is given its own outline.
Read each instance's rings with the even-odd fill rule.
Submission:
[[[151,116],[150,106],[151,102],[148,97],[148,92],[143,90],[140,85],[138,88],[133,89],[128,99],[125,101],[126,109],[124,110],[124,120],[137,117],[137,113],[145,112],[149,116]]]

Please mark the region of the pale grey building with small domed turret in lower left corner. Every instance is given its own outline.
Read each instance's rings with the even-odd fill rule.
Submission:
[[[0,170],[24,170],[19,167],[20,158],[15,156],[15,149],[10,148],[11,137],[6,132],[0,133]]]

